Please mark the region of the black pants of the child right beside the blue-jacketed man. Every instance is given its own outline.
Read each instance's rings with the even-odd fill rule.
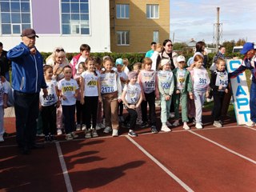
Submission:
[[[43,134],[56,134],[56,103],[51,106],[42,106]]]

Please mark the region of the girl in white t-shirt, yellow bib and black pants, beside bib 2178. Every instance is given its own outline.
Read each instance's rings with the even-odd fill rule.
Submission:
[[[85,138],[98,137],[96,130],[98,102],[102,101],[100,94],[99,74],[95,71],[94,58],[86,59],[86,72],[82,73],[81,103],[85,104],[84,114],[86,119]],[[90,130],[90,122],[92,129]]]

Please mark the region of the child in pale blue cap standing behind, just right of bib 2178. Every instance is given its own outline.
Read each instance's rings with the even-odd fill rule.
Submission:
[[[126,73],[123,71],[124,70],[124,66],[123,66],[123,62],[122,62],[122,58],[118,58],[115,61],[115,66],[117,67],[118,70],[118,77],[120,78],[121,81],[121,86],[122,86],[122,90],[126,84],[126,81],[128,79]],[[124,122],[124,118],[122,117],[122,111],[123,111],[123,104],[122,101],[118,103],[118,118],[119,118],[119,122]]]

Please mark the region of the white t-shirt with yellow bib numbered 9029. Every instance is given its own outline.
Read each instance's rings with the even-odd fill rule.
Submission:
[[[70,81],[66,81],[63,78],[60,82],[58,82],[58,90],[62,90],[62,94],[66,97],[65,100],[62,99],[62,106],[73,106],[76,102],[76,98],[74,98],[75,90],[78,90],[78,82],[73,78]]]

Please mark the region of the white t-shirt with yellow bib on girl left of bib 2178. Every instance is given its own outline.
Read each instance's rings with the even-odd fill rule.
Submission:
[[[96,72],[97,73],[97,72]],[[81,75],[82,78],[85,79],[85,89],[84,96],[86,97],[96,97],[98,96],[98,78],[94,73],[90,73],[89,71],[85,71]]]

